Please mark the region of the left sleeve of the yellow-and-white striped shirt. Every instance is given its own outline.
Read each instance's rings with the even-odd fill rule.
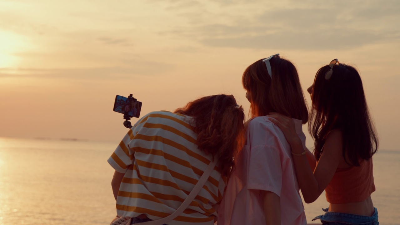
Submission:
[[[128,170],[128,167],[132,165],[134,161],[134,150],[130,148],[128,144],[132,139],[134,139],[136,134],[143,127],[144,123],[146,123],[147,118],[148,117],[146,116],[143,117],[131,129],[129,129],[128,133],[116,147],[110,158],[108,158],[107,162],[117,172],[125,173]]]

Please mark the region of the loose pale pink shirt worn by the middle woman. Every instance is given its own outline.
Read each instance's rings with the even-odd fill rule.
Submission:
[[[305,147],[302,121],[293,119]],[[228,180],[218,209],[218,225],[265,225],[261,190],[280,197],[282,225],[305,225],[289,143],[268,117],[248,123],[247,141]]]

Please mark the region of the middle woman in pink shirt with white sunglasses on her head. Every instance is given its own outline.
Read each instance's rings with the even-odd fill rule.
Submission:
[[[290,145],[265,116],[280,112],[293,118],[305,146],[302,125],[308,121],[308,109],[296,67],[275,54],[248,66],[242,84],[251,119],[218,209],[218,225],[305,225]]]

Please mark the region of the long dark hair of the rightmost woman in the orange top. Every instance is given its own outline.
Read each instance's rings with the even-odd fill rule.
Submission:
[[[320,68],[312,90],[312,109],[308,129],[315,139],[314,155],[318,160],[327,135],[333,129],[342,132],[343,157],[359,166],[378,150],[378,137],[368,112],[360,74],[352,66],[338,64],[325,79],[329,66]]]

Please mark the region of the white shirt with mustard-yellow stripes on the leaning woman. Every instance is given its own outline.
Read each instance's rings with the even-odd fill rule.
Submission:
[[[128,131],[108,159],[125,173],[116,208],[120,216],[160,219],[176,211],[211,161],[196,145],[192,117],[150,112]],[[214,168],[203,189],[169,225],[212,225],[226,177]]]

